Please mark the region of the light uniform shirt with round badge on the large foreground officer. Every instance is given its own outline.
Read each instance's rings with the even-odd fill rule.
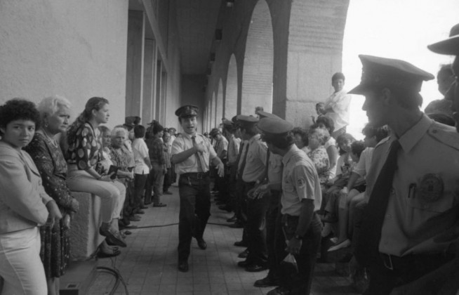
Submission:
[[[375,147],[366,176],[369,196],[395,139]],[[399,143],[379,250],[394,256],[441,253],[449,242],[435,238],[459,227],[459,134],[423,114]]]

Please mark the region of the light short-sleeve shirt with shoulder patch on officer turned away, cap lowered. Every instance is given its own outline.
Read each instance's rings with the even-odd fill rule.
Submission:
[[[303,199],[314,200],[314,211],[319,210],[322,192],[319,175],[311,159],[296,145],[292,145],[282,158],[282,163],[281,213],[300,216]]]

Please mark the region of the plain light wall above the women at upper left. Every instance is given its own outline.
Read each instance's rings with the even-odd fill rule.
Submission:
[[[58,94],[76,116],[103,96],[124,122],[127,24],[125,0],[1,0],[0,103]]]

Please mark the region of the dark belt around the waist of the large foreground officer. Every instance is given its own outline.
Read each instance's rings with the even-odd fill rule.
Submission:
[[[381,260],[385,268],[389,270],[403,270],[413,265],[413,262],[438,263],[439,265],[449,261],[453,256],[438,254],[411,254],[407,256],[393,256],[390,254],[380,253]]]

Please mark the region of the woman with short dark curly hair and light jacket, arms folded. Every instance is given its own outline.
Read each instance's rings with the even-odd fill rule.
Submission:
[[[41,185],[40,173],[32,158],[22,150],[34,138],[39,122],[38,110],[27,100],[8,100],[0,106],[2,294],[45,295],[48,289],[40,259],[38,226],[48,223],[52,228],[56,223],[59,227],[62,214]]]

